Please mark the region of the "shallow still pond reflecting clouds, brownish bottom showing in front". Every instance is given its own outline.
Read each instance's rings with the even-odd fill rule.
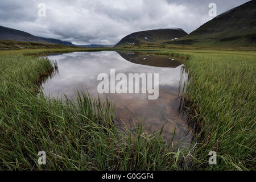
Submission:
[[[101,100],[108,97],[115,104],[115,116],[130,130],[135,130],[134,127],[142,122],[145,131],[154,133],[164,124],[165,137],[170,138],[175,132],[175,141],[180,138],[183,142],[191,140],[191,134],[187,134],[187,119],[178,113],[180,79],[187,79],[186,75],[181,75],[183,65],[179,61],[150,52],[131,51],[72,52],[47,57],[56,60],[59,73],[48,78],[42,87],[45,94],[58,98],[64,93],[75,100],[77,90],[98,97],[97,85],[101,81],[97,76],[100,73],[110,76],[110,69],[115,69],[115,75],[159,73],[159,97],[156,100],[148,100],[147,93],[104,93],[99,96]]]

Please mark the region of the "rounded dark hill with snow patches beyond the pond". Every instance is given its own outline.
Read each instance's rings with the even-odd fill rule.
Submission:
[[[164,28],[158,30],[146,30],[134,32],[125,36],[120,40],[115,47],[130,47],[138,46],[140,44],[163,43],[168,40],[175,40],[182,36],[188,35],[181,28]]]

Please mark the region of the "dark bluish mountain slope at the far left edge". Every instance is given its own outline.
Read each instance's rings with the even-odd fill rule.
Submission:
[[[46,40],[40,39],[27,32],[16,30],[9,27],[0,26],[0,40],[14,40],[23,42],[48,43]]]

